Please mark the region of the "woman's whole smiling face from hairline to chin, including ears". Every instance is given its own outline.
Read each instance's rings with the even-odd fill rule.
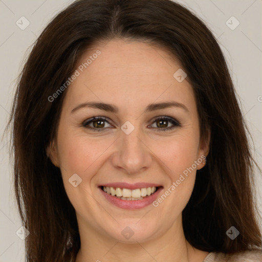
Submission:
[[[113,39],[87,51],[76,70],[48,150],[80,234],[133,243],[181,231],[208,146],[180,63],[148,43]]]

